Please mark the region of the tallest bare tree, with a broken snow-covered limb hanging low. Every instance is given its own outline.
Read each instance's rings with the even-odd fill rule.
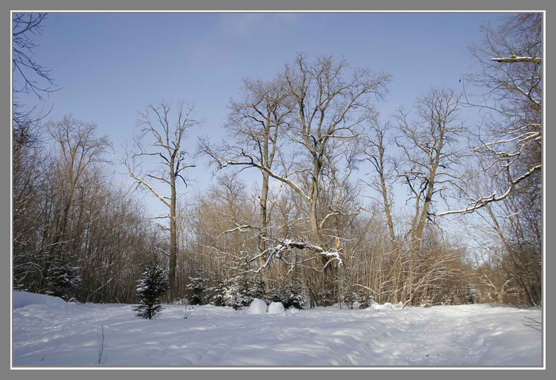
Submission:
[[[294,63],[286,64],[285,72],[280,77],[283,80],[280,88],[286,95],[284,101],[288,102],[284,109],[287,112],[288,139],[293,144],[290,151],[298,151],[303,159],[293,167],[283,161],[275,169],[264,165],[258,155],[243,147],[237,147],[236,155],[231,158],[214,152],[211,154],[221,167],[240,165],[258,168],[294,190],[306,205],[310,236],[274,239],[272,247],[259,253],[257,259],[268,256],[265,261],[268,265],[271,258],[283,258],[284,251],[308,249],[320,255],[327,267],[341,258],[339,247],[325,247],[322,227],[329,217],[340,215],[341,210],[329,205],[332,206],[330,213],[319,220],[318,204],[323,176],[341,171],[336,154],[343,149],[348,151],[350,144],[361,136],[363,122],[373,112],[372,98],[382,99],[391,76],[370,69],[350,69],[344,60],[336,63],[332,57],[326,56],[310,63],[300,54]],[[285,153],[284,150],[282,153]],[[345,157],[348,156],[351,155]],[[331,163],[336,166],[334,171],[330,170]],[[350,158],[343,163],[348,171],[352,164]],[[338,184],[341,185],[341,181]]]

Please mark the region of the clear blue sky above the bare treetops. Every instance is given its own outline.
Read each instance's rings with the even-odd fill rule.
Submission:
[[[40,106],[49,118],[72,114],[95,122],[118,145],[131,140],[136,113],[161,99],[195,104],[197,135],[222,136],[240,79],[270,79],[293,60],[332,54],[352,66],[393,75],[377,110],[386,119],[411,108],[432,85],[461,90],[475,60],[466,46],[480,40],[480,24],[500,13],[53,13],[44,20],[35,59],[62,89]],[[28,104],[37,103],[35,99]],[[475,111],[473,111],[475,112]],[[468,115],[473,118],[473,115]],[[123,171],[123,170],[122,170]],[[211,181],[204,163],[190,176]],[[256,178],[252,173],[252,178]],[[158,201],[149,200],[158,209]]]

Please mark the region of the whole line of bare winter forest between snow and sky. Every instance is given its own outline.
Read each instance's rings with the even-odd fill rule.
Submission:
[[[42,21],[15,15],[14,65],[51,83],[16,53]],[[542,15],[484,34],[481,70],[462,80],[490,103],[432,87],[380,115],[390,74],[299,54],[243,80],[221,141],[188,140],[193,106],[162,101],[122,153],[96,124],[43,122],[15,96],[14,289],[134,303],[156,256],[166,301],[541,304]],[[33,83],[14,94],[50,90]],[[480,127],[464,108],[482,110]],[[181,197],[193,165],[217,180]],[[149,213],[145,192],[168,213]]]

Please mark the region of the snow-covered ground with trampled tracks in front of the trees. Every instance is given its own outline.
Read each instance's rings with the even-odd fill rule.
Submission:
[[[250,308],[67,304],[13,294],[13,365],[541,365],[540,310],[488,305],[251,314]]]

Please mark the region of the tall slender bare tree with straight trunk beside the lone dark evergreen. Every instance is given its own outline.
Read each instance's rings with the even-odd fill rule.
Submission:
[[[143,188],[157,197],[169,213],[157,215],[154,219],[170,220],[170,299],[177,297],[177,185],[187,185],[186,170],[195,165],[186,163],[187,154],[182,144],[186,131],[201,122],[193,119],[193,106],[177,104],[177,118],[172,118],[171,102],[161,101],[159,106],[148,106],[138,113],[138,133],[134,137],[134,149],[126,151],[124,158],[118,158],[128,171],[129,176]],[[145,158],[156,158],[158,167],[154,170],[145,169]],[[162,183],[169,188],[170,196],[156,190],[153,183]]]

